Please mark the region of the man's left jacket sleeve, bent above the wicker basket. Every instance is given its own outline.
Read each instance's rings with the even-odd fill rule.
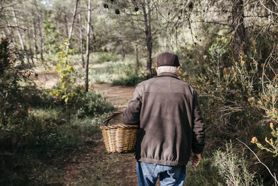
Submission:
[[[133,93],[133,97],[129,102],[129,106],[124,109],[122,116],[123,122],[126,125],[139,125],[140,123],[140,111],[142,106],[142,95],[140,93],[139,85]]]

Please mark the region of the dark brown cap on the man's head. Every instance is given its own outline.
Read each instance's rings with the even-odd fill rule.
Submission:
[[[156,59],[157,66],[179,66],[178,56],[169,52],[159,54]]]

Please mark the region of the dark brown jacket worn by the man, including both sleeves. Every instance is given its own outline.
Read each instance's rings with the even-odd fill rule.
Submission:
[[[140,123],[136,144],[140,162],[184,165],[191,148],[201,152],[204,145],[197,94],[169,72],[138,84],[124,122]]]

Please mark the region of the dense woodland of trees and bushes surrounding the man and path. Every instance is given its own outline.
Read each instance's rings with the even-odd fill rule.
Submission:
[[[277,0],[1,0],[0,40],[0,185],[65,185],[66,160],[117,109],[92,84],[136,86],[161,52],[206,125],[186,185],[278,185]],[[124,183],[90,174],[76,185]]]

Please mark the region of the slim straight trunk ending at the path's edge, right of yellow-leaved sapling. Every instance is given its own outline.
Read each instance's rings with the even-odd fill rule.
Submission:
[[[87,22],[87,40],[86,40],[86,79],[85,91],[89,90],[89,56],[90,56],[90,23],[91,23],[91,0],[88,0],[88,22]]]

